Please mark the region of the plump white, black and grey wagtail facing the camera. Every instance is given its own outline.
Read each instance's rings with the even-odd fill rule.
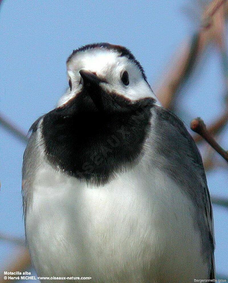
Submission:
[[[25,234],[40,281],[215,279],[210,195],[184,123],[126,47],[88,44],[66,65],[69,87],[32,124],[23,156]]]

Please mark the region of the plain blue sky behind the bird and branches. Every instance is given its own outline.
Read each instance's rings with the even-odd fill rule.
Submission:
[[[199,15],[197,1],[187,0],[5,0],[0,10],[0,111],[27,132],[37,117],[53,109],[68,86],[65,64],[72,49],[93,42],[128,47],[156,93],[177,47],[196,31]],[[210,124],[221,115],[224,91],[221,58],[211,45],[178,98],[184,122],[188,125],[201,116]],[[23,237],[21,164],[25,145],[2,127],[0,137],[0,232]],[[225,135],[219,141],[227,148]],[[226,176],[225,166],[208,173],[211,194],[227,196]],[[216,266],[223,274],[228,274],[227,216],[227,210],[214,206]],[[0,242],[0,270],[14,249],[14,245]]]

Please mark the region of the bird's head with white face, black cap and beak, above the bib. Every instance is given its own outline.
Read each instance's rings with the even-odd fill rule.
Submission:
[[[94,43],[76,49],[67,59],[69,89],[58,102],[63,106],[80,93],[89,95],[98,109],[105,109],[108,95],[134,102],[150,97],[159,104],[143,67],[125,47]]]

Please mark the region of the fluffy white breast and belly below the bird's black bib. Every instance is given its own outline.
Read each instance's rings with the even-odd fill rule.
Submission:
[[[39,276],[137,283],[207,278],[194,206],[162,172],[139,164],[105,186],[87,187],[45,166],[32,190],[26,234]]]

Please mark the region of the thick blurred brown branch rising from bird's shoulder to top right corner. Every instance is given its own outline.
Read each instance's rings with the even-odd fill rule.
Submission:
[[[221,12],[219,8],[222,7],[225,1],[226,0],[211,1],[203,13],[203,22],[207,19],[207,22],[212,24],[207,25],[206,28],[204,24],[203,28],[200,28],[192,37],[191,45],[185,47],[184,50],[179,50],[178,59],[176,59],[175,64],[168,71],[166,78],[162,79],[162,84],[159,86],[156,94],[162,106],[165,108],[172,108],[177,89],[186,81],[191,68],[194,67],[194,63],[204,51],[209,41],[212,39],[218,42],[221,41],[221,33],[223,31],[223,21],[221,18],[224,18],[224,13],[228,11]]]

